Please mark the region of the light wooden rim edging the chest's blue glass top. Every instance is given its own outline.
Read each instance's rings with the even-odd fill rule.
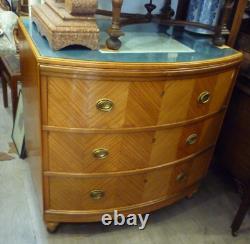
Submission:
[[[84,68],[105,68],[105,69],[140,69],[140,70],[162,70],[162,69],[197,69],[203,66],[218,66],[220,64],[228,63],[229,65],[234,63],[240,63],[243,60],[243,54],[239,51],[227,57],[215,58],[209,60],[193,61],[193,62],[167,62],[167,63],[127,63],[127,62],[111,62],[111,61],[86,61],[86,60],[75,60],[75,59],[61,59],[61,58],[51,58],[43,57],[40,55],[37,47],[35,46],[32,38],[27,32],[22,20],[19,18],[18,24],[22,30],[24,36],[26,37],[29,46],[31,47],[33,53],[39,64],[56,64],[61,66],[69,67],[84,67]]]

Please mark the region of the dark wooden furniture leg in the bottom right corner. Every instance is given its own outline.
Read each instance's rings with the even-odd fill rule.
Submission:
[[[247,211],[250,208],[250,184],[247,186],[243,198],[242,198],[242,202],[240,204],[240,208],[233,220],[233,223],[231,225],[232,228],[232,235],[233,236],[237,236],[237,232],[240,229],[240,226],[247,214]]]

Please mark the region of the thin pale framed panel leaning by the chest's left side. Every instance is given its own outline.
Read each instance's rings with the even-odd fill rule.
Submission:
[[[22,93],[22,90],[20,90],[11,138],[16,147],[19,157],[22,159],[26,158],[24,113],[23,112],[24,112],[23,111],[23,93]]]

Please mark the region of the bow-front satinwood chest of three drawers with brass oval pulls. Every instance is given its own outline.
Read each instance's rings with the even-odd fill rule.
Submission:
[[[28,159],[50,231],[197,190],[240,53],[189,34],[191,53],[53,52],[28,19],[19,25]]]

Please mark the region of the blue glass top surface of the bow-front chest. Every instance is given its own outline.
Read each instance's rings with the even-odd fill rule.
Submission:
[[[183,27],[166,27],[157,23],[146,24],[133,24],[122,28],[125,33],[122,42],[124,45],[127,43],[134,43],[138,40],[142,40],[141,45],[150,45],[148,52],[139,48],[139,51],[132,50],[131,52],[125,50],[125,52],[103,52],[100,50],[92,51],[81,46],[70,46],[59,51],[54,51],[50,48],[48,41],[45,37],[42,37],[37,27],[32,23],[29,18],[22,18],[24,26],[31,36],[39,54],[42,57],[49,58],[62,58],[62,59],[74,59],[84,61],[97,61],[97,62],[126,62],[126,63],[169,63],[169,62],[193,62],[210,60],[216,58],[223,58],[237,53],[231,48],[218,48],[212,44],[211,36],[191,33],[186,31]],[[100,29],[100,46],[105,44],[108,37],[106,30],[111,25],[111,20],[98,19],[98,26]],[[135,33],[139,39],[133,38],[131,33]],[[152,33],[152,35],[150,34]],[[152,50],[154,45],[153,39],[144,39],[143,35],[148,37],[159,36],[159,41],[162,42],[163,35],[171,39],[171,45],[166,48],[165,42],[158,45],[158,49]],[[141,38],[140,38],[141,35]],[[150,42],[151,41],[151,42]],[[145,44],[146,43],[146,44]],[[169,42],[166,42],[166,45]],[[140,45],[140,43],[139,43]],[[157,46],[157,45],[156,45]],[[163,50],[161,51],[161,48]]]

